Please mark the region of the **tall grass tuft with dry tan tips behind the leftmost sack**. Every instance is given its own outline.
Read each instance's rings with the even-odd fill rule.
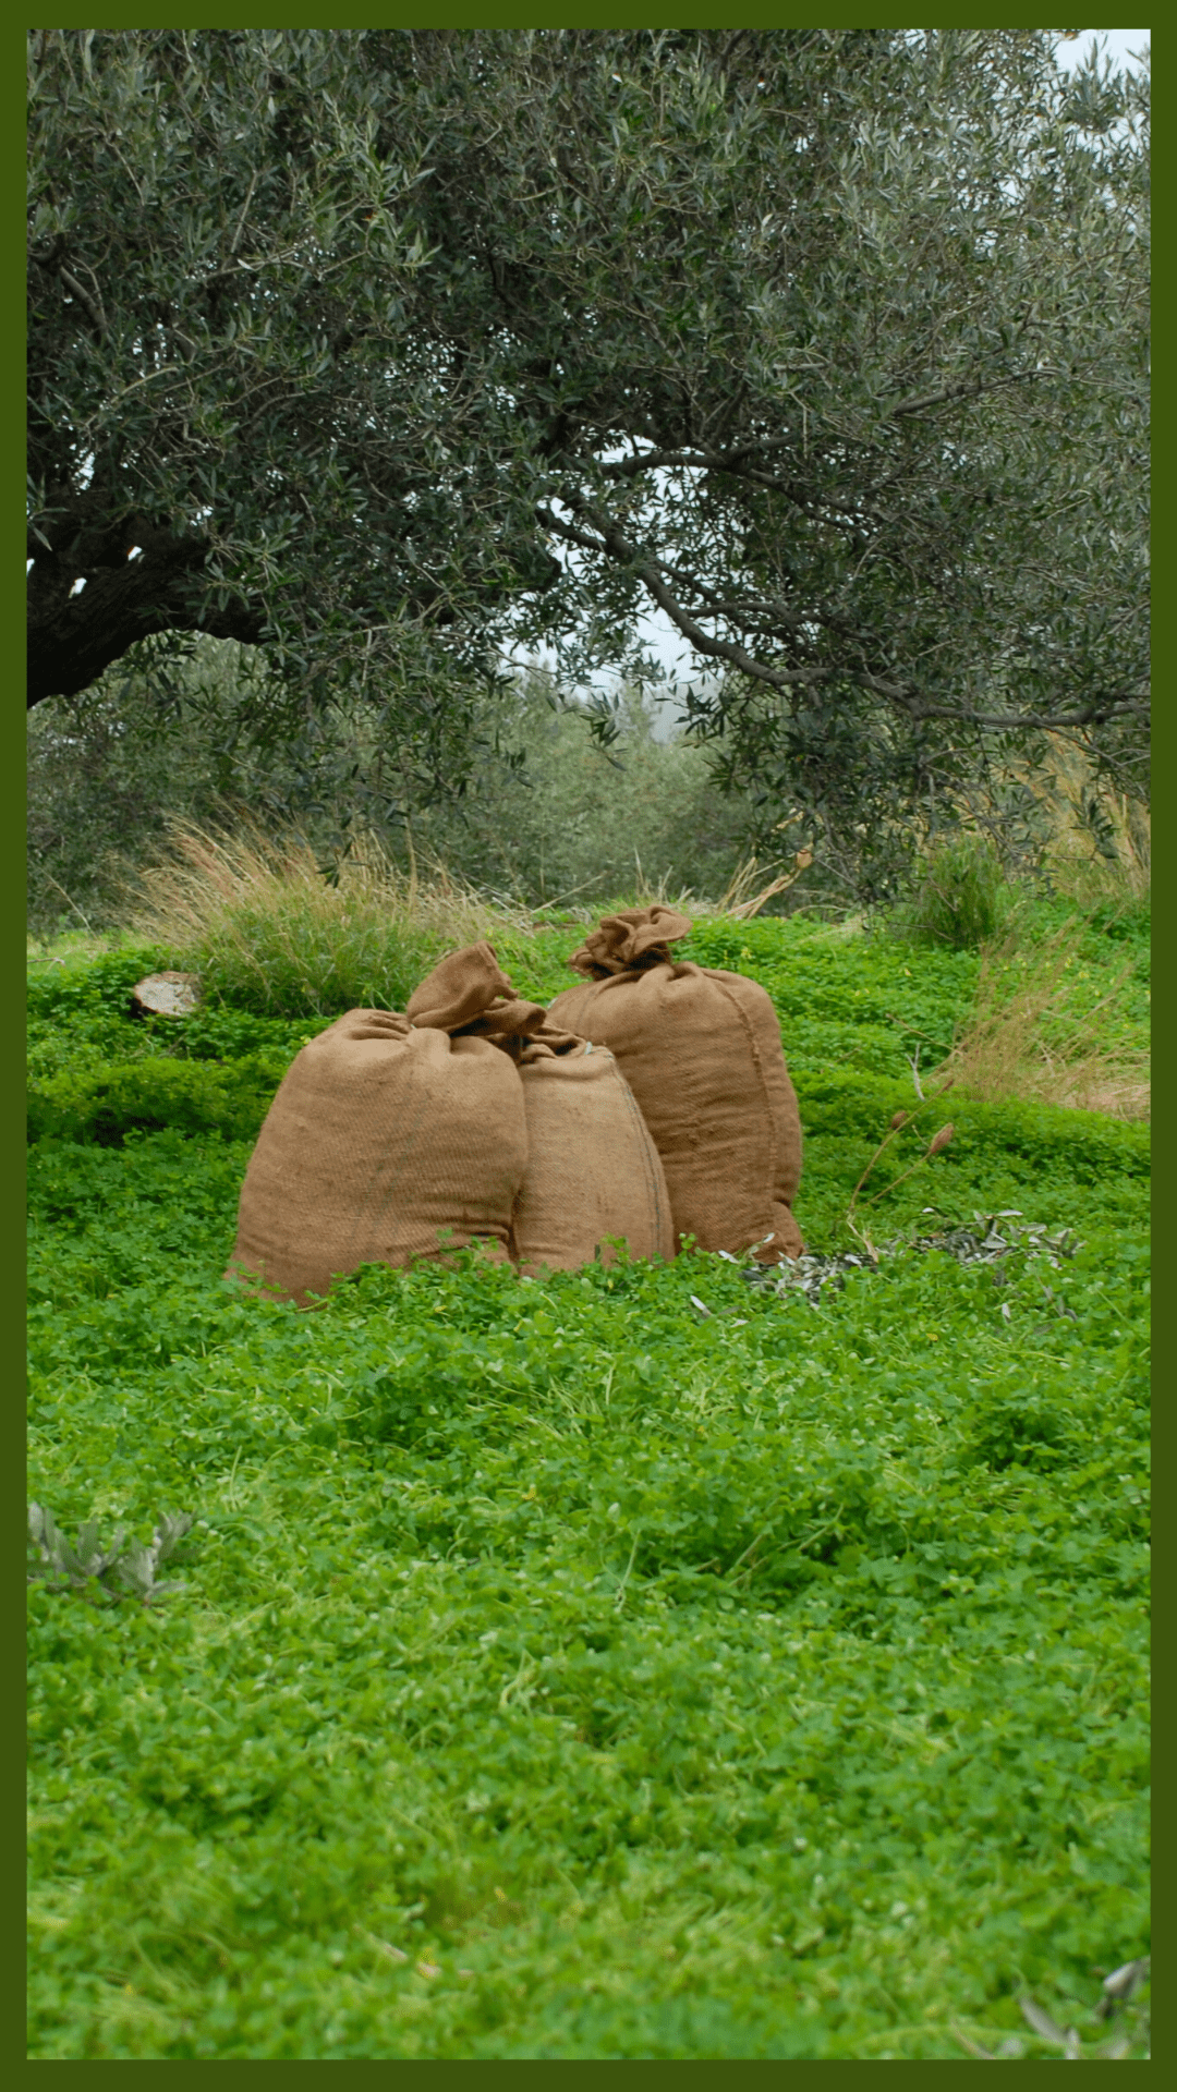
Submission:
[[[528,929],[440,864],[402,872],[371,835],[329,879],[299,831],[272,839],[249,822],[170,822],[132,908],[134,931],[199,973],[209,1002],[270,1017],[404,1008],[446,950]]]

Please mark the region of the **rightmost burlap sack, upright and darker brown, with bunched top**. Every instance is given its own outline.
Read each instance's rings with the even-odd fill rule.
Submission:
[[[664,906],[605,916],[568,962],[588,979],[547,1021],[616,1056],[662,1157],[674,1247],[689,1234],[760,1264],[800,1257],[800,1113],[777,1013],[741,973],[672,958],[689,931]]]

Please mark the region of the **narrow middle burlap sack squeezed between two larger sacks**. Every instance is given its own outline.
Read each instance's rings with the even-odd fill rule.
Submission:
[[[528,1276],[572,1272],[612,1236],[630,1257],[674,1255],[670,1197],[658,1149],[616,1059],[603,1046],[547,1044],[519,1054],[528,1167],[511,1222],[511,1257]]]

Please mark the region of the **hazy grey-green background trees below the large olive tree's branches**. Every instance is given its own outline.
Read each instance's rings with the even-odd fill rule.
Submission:
[[[220,828],[243,808],[270,833],[297,826],[325,870],[362,856],[371,828],[406,870],[413,841],[423,877],[440,860],[482,893],[532,908],[599,906],[639,887],[718,900],[752,854],[748,797],[714,789],[706,747],[653,732],[637,690],[620,692],[609,749],[540,674],[475,695],[467,787],[427,801],[392,768],[371,707],[333,707],[314,751],[251,745],[237,653],[230,640],[201,642],[163,718],[155,680],[121,674],[29,715],[34,935],[126,923],[134,874],[168,851],[170,820]],[[406,818],[390,820],[390,803]],[[769,879],[748,868],[739,897]],[[844,889],[810,889],[806,902],[842,914]]]

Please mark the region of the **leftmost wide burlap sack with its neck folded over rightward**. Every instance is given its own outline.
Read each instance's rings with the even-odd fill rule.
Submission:
[[[513,1054],[542,1017],[480,943],[404,1017],[348,1010],[310,1040],[249,1159],[230,1274],[306,1305],[360,1264],[471,1243],[505,1261],[528,1163]]]

